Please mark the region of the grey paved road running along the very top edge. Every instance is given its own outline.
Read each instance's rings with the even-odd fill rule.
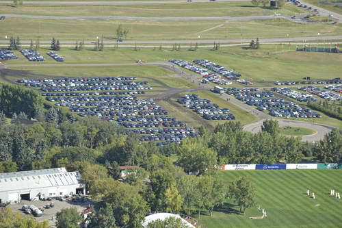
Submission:
[[[215,2],[250,1],[250,0],[215,0]],[[24,4],[54,4],[54,5],[119,5],[119,4],[156,4],[156,3],[186,3],[186,0],[165,1],[23,1]],[[193,0],[189,4],[210,2],[209,0]],[[13,3],[13,1],[0,1],[0,3]]]

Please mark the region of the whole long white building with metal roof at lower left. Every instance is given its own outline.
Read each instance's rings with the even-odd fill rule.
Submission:
[[[78,172],[65,168],[0,173],[0,203],[83,194],[85,185],[80,180]]]

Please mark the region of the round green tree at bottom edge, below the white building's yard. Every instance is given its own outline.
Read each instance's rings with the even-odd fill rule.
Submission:
[[[79,228],[79,223],[83,220],[77,211],[77,207],[64,208],[56,214],[57,228]]]

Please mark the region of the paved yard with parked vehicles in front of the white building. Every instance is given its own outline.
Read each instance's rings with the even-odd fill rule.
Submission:
[[[44,212],[42,213],[42,216],[40,217],[34,217],[32,214],[25,214],[21,208],[23,207],[23,205],[35,205],[36,207],[40,208],[40,207],[44,207],[45,205],[47,205],[48,203],[53,202],[54,207],[51,207],[49,209],[44,209]],[[71,201],[21,201],[21,203],[14,203],[14,204],[10,204],[8,205],[8,207],[12,208],[12,210],[14,210],[14,212],[21,212],[21,214],[23,214],[23,216],[29,216],[31,218],[35,218],[38,221],[44,221],[44,220],[49,220],[49,223],[52,227],[55,227],[55,214],[57,212],[60,212],[60,210],[62,210],[63,208],[69,208],[69,207],[77,207],[77,210],[81,213],[83,212],[83,210],[86,210],[86,208],[88,207],[89,202],[87,203],[81,203],[81,202],[71,202]],[[52,217],[54,218],[52,220]]]

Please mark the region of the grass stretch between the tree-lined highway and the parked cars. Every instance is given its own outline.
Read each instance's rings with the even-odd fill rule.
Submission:
[[[62,48],[58,53],[66,57],[66,64],[132,63],[136,60],[156,62],[174,58],[188,61],[207,59],[226,68],[234,68],[241,73],[242,78],[252,80],[253,86],[274,86],[273,82],[276,80],[301,80],[302,77],[306,76],[313,80],[341,77],[342,55],[288,51],[287,46],[285,46],[286,51],[282,51],[281,48],[281,45],[261,45],[259,50],[225,47],[221,48],[220,51],[211,51],[210,48],[187,51],[189,46],[182,46],[181,51],[172,51],[171,49],[133,51],[133,48],[119,48],[116,51],[112,48],[105,48],[105,51],[73,51]],[[292,46],[291,48],[295,47]],[[47,61],[42,64],[60,64],[44,54],[48,51],[47,49],[40,49],[39,51],[47,58]],[[27,61],[21,53],[16,52],[16,55],[20,59],[10,60],[7,64],[36,64],[36,62]],[[44,69],[40,71],[44,71]],[[241,87],[243,85],[235,83],[234,86]]]

